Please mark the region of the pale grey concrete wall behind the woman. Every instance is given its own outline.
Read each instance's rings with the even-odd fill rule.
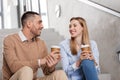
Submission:
[[[61,16],[55,15],[55,6],[61,5]],[[78,0],[48,0],[49,26],[61,35],[69,37],[68,25],[72,16],[86,19],[90,38],[100,52],[102,73],[110,73],[112,80],[120,79],[120,63],[116,52],[120,50],[120,18],[86,5]]]

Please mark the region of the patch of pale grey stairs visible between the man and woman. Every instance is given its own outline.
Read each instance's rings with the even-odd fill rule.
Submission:
[[[60,36],[54,29],[43,29],[40,38],[46,42],[49,52],[52,45],[59,45],[59,43],[64,40],[64,37]]]

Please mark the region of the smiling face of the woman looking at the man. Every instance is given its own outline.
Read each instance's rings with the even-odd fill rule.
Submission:
[[[83,31],[83,27],[81,26],[81,24],[79,23],[78,20],[72,20],[70,22],[70,26],[69,26],[69,32],[71,34],[71,37],[79,37],[82,35],[82,31]]]

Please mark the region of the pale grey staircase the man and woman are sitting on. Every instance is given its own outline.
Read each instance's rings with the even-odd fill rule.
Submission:
[[[2,44],[3,39],[6,35],[19,32],[20,29],[1,29],[0,30],[0,80],[1,80],[1,69],[2,69]],[[43,29],[41,36],[41,39],[43,39],[46,42],[46,45],[48,47],[48,51],[50,52],[51,45],[58,45],[63,39],[63,36],[60,36],[58,32],[55,32],[54,29]],[[56,66],[56,69],[62,69],[61,63]],[[41,69],[38,71],[38,76],[43,76]],[[111,80],[110,74],[99,74],[99,80]]]

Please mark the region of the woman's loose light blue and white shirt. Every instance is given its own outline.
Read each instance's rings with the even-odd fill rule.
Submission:
[[[97,44],[95,41],[91,40],[91,49],[93,56],[98,64],[96,66],[96,69],[98,73],[100,72],[99,67],[99,51],[97,48]],[[62,68],[66,72],[69,80],[81,80],[82,75],[80,74],[80,67],[75,66],[75,62],[79,59],[81,50],[79,50],[77,55],[72,55],[70,51],[70,39],[65,39],[60,43],[60,53],[61,53],[61,62],[62,62]],[[78,71],[79,70],[79,71]]]

